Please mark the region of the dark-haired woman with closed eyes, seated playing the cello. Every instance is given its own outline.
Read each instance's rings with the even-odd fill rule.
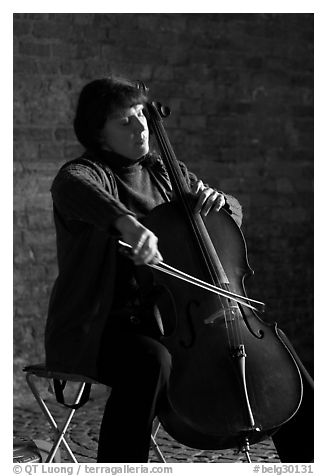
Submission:
[[[149,152],[146,99],[122,78],[86,85],[74,122],[85,153],[61,168],[51,189],[59,275],[46,325],[47,366],[112,387],[98,462],[148,460],[152,421],[171,369],[155,295],[142,294],[136,279],[137,266],[163,259],[142,218],[173,199],[164,164]],[[240,225],[236,199],[180,166],[196,197],[195,212],[223,207]],[[131,257],[119,251],[118,239],[131,246]]]

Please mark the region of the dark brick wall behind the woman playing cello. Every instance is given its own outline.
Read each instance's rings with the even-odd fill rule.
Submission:
[[[81,151],[77,95],[109,71],[145,81],[170,105],[177,155],[239,198],[248,293],[267,303],[313,359],[313,15],[14,15],[14,346],[20,369],[43,359],[56,276],[49,188]]]

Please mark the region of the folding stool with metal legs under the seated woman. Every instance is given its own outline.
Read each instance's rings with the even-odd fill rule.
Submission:
[[[65,438],[65,434],[67,429],[70,425],[70,422],[75,414],[75,412],[81,408],[89,399],[89,394],[91,390],[91,386],[94,384],[99,384],[96,380],[93,380],[89,377],[85,377],[84,375],[76,375],[76,374],[68,374],[64,372],[52,371],[48,370],[44,364],[38,365],[29,365],[23,369],[26,372],[26,381],[31,389],[36,401],[38,402],[43,414],[45,415],[46,419],[50,423],[52,429],[55,432],[55,440],[53,446],[49,452],[49,455],[46,459],[46,463],[51,463],[58,451],[58,448],[61,444],[63,444],[68,452],[69,457],[74,463],[78,463],[77,459],[75,458],[71,448],[69,447],[67,440]],[[46,405],[44,399],[40,395],[40,392],[37,388],[35,383],[35,377],[37,378],[45,378],[47,380],[53,381],[53,386],[56,394],[57,402],[60,404],[65,405],[69,410],[66,416],[66,419],[61,428],[58,427],[54,417],[52,416],[48,406]],[[64,402],[63,397],[63,389],[67,382],[78,382],[80,385],[78,386],[77,393],[73,400],[72,404],[67,404]],[[156,442],[156,435],[158,433],[160,427],[160,423],[156,420],[156,424],[154,425],[154,430],[151,435],[151,446],[158,457],[158,460],[162,463],[165,463],[166,460]]]

